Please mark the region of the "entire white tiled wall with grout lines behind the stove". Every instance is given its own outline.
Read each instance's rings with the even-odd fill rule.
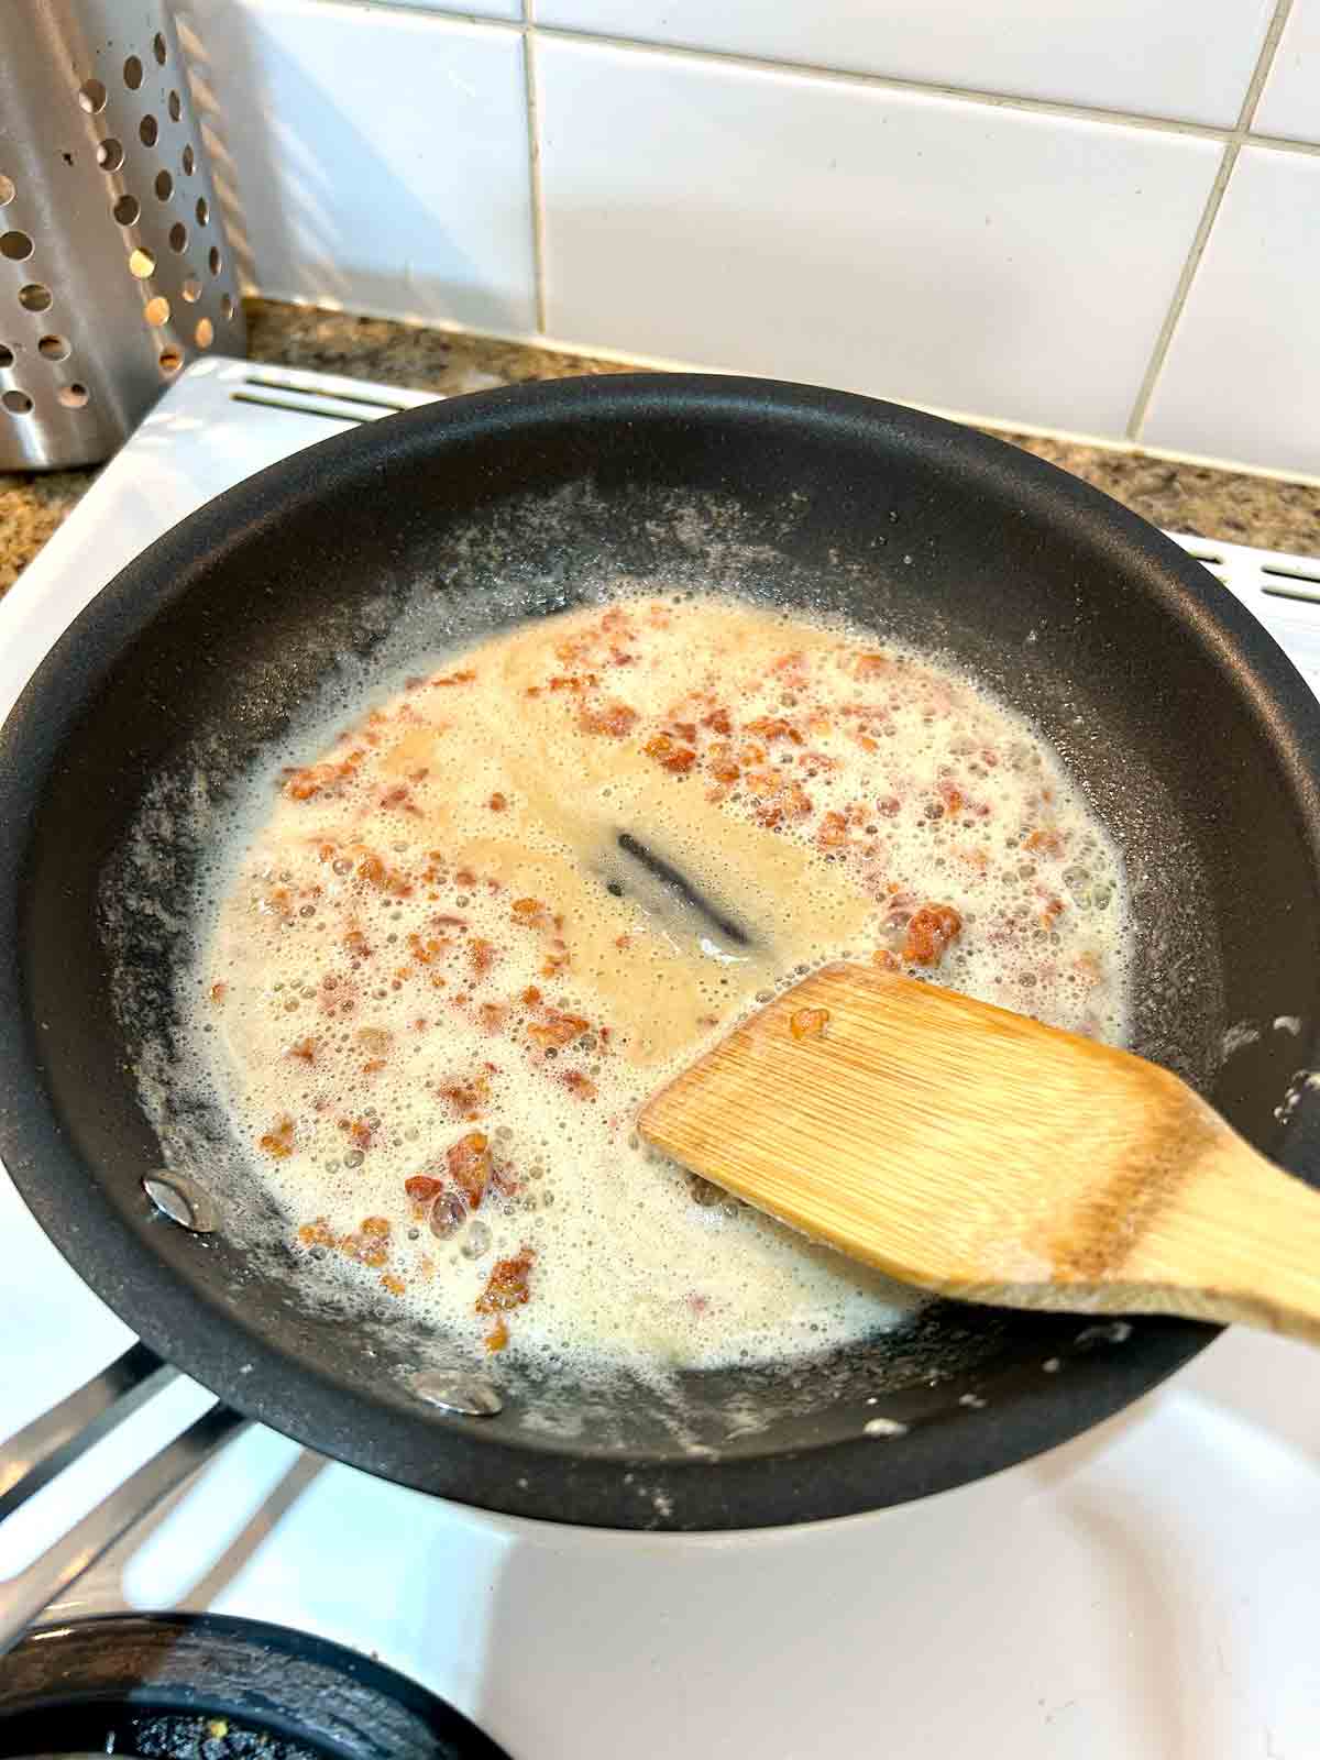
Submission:
[[[188,12],[266,294],[1320,475],[1320,0]]]

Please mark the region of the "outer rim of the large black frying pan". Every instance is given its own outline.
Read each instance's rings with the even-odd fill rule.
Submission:
[[[1320,873],[1320,713],[1267,632],[1172,540],[1079,479],[977,429],[850,392],[723,375],[586,377],[422,405],[331,436],[225,491],[134,558],[35,669],[0,727],[0,822],[26,825],[25,799],[39,796],[81,699],[123,646],[229,551],[260,542],[273,521],[315,505],[327,486],[345,489],[385,466],[403,470],[408,458],[431,458],[491,429],[568,419],[672,421],[685,410],[702,419],[753,415],[871,438],[898,435],[931,465],[957,465],[986,493],[1010,493],[1042,517],[1072,510],[1093,549],[1121,551],[1125,570],[1176,607],[1220,664],[1250,683],[1244,697],[1278,753]],[[67,688],[70,672],[77,692]],[[213,1308],[209,1324],[199,1325],[197,1292],[121,1223],[107,1199],[93,1200],[77,1220],[56,1202],[62,1184],[92,1181],[95,1192],[95,1179],[62,1137],[44,1086],[32,1079],[40,1058],[23,1007],[23,852],[21,831],[0,848],[0,1156],[21,1197],[74,1271],[153,1350],[245,1415],[382,1478],[488,1510],[593,1528],[692,1533],[857,1515],[982,1478],[1070,1440],[1158,1385],[1214,1336],[1192,1322],[1144,1322],[1140,1350],[1096,1353],[1084,1389],[1054,1376],[1038,1394],[1016,1399],[1012,1424],[950,1410],[938,1422],[913,1426],[901,1447],[889,1445],[884,1471],[869,1438],[796,1456],[656,1463],[510,1443],[479,1420],[414,1415],[368,1399],[248,1332],[229,1309]],[[444,1436],[442,1448],[436,1436]],[[549,1461],[554,1471],[539,1473]],[[660,1496],[642,1503],[625,1475],[642,1475]]]

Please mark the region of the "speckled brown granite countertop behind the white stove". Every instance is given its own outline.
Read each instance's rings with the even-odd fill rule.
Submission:
[[[246,315],[253,361],[422,391],[470,391],[477,375],[516,382],[625,371],[586,356],[264,299],[248,301]],[[1075,472],[1156,526],[1304,556],[1320,553],[1320,488],[1008,429],[989,431]],[[95,470],[0,473],[0,593],[18,579],[93,477]]]

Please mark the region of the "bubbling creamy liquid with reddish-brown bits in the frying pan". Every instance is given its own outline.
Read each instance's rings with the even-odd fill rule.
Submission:
[[[634,1132],[822,961],[1125,1037],[1114,847],[1024,720],[913,653],[628,598],[313,750],[216,873],[209,1079],[296,1248],[473,1352],[785,1360],[912,1313]]]

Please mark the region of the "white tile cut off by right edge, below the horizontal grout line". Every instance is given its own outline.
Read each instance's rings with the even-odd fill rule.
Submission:
[[[1148,445],[1320,473],[1320,158],[1246,146],[1155,389]]]

